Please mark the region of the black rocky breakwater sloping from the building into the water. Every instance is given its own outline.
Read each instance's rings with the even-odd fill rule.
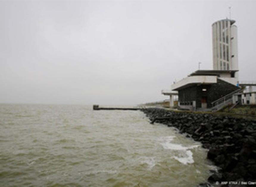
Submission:
[[[256,186],[256,120],[157,108],[142,111],[152,123],[176,127],[209,149],[207,158],[219,168],[208,178],[210,183]]]

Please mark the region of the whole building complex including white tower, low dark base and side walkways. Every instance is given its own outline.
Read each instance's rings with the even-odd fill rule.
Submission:
[[[220,110],[227,104],[256,104],[256,82],[238,81],[238,46],[235,20],[223,19],[212,24],[213,70],[197,70],[171,85],[164,95],[170,101],[178,92],[178,108]],[[244,88],[249,86],[249,90]],[[176,91],[176,92],[175,92]],[[170,102],[170,107],[174,102]]]

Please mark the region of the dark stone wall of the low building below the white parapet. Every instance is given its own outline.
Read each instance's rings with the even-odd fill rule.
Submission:
[[[206,91],[203,91],[203,88]],[[202,107],[202,97],[207,97],[207,108],[212,107],[211,102],[239,89],[237,86],[217,79],[216,84],[193,85],[179,90],[179,102],[196,101],[196,108]]]

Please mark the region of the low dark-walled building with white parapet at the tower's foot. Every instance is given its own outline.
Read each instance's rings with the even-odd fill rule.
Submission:
[[[171,89],[178,91],[178,107],[185,110],[213,110],[223,104],[231,104],[232,94],[241,90],[237,86],[236,72],[197,70],[174,83]]]

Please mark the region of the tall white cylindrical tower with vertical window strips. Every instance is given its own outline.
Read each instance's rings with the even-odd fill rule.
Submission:
[[[212,24],[213,70],[238,70],[237,27],[235,20]],[[238,78],[238,72],[235,73]]]

